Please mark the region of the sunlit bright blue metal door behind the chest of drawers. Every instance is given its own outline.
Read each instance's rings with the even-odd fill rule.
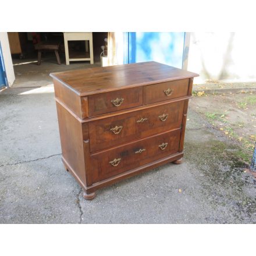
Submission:
[[[184,32],[129,32],[125,63],[157,61],[182,68]]]

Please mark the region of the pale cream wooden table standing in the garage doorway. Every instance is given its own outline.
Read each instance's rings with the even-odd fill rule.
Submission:
[[[69,65],[70,61],[93,61],[93,33],[92,32],[63,32],[64,45],[65,45],[65,56],[66,65]],[[68,41],[85,41],[86,52],[81,54],[70,55]],[[89,54],[90,50],[90,54]]]

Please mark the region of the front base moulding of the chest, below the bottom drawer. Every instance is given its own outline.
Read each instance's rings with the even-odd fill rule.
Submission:
[[[93,193],[96,190],[101,189],[102,187],[109,186],[110,184],[113,184],[113,183],[119,182],[120,180],[127,179],[129,177],[138,175],[139,173],[146,172],[147,170],[156,168],[159,165],[163,165],[168,162],[173,162],[182,157],[183,157],[183,152],[179,152],[179,153],[170,155],[169,157],[158,159],[154,162],[147,163],[147,165],[143,165],[138,168],[128,170],[127,172],[120,173],[119,175],[110,177],[109,179],[101,180],[100,182],[94,183],[92,186],[87,187],[86,191],[87,191],[87,193]]]

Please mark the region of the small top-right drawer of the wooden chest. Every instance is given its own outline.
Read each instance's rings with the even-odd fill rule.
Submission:
[[[144,86],[143,104],[150,104],[187,95],[189,79],[175,80]]]

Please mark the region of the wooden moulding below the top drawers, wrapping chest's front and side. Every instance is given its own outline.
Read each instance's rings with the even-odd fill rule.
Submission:
[[[56,97],[55,97],[55,101],[57,101],[59,104],[61,104],[63,106],[63,108],[65,108],[71,115],[73,115],[74,118],[79,120],[79,122],[87,123],[87,122],[90,122],[90,121],[109,118],[111,116],[118,116],[118,115],[122,115],[122,114],[125,114],[125,113],[131,113],[131,112],[142,110],[142,109],[154,108],[154,106],[161,106],[161,105],[169,104],[169,103],[172,103],[172,102],[184,101],[185,99],[190,99],[190,98],[192,98],[192,96],[190,96],[190,95],[189,96],[178,97],[178,98],[174,98],[174,99],[169,99],[168,101],[159,101],[159,102],[148,104],[148,105],[136,106],[134,108],[127,108],[127,109],[123,109],[123,110],[116,111],[116,112],[105,113],[105,114],[98,115],[98,116],[92,116],[91,118],[86,118],[86,119],[79,118],[79,116],[77,116],[74,112],[72,112],[72,110],[69,109],[67,107],[67,105],[65,105],[62,101],[60,101]]]

